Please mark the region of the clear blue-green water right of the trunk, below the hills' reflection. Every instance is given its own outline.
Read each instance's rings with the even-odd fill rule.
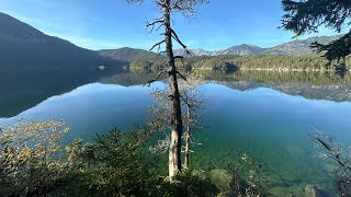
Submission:
[[[307,100],[267,88],[241,92],[208,84],[203,90],[211,101],[203,121],[211,127],[204,134],[206,150],[197,148],[203,154],[194,154],[202,163],[197,167],[213,166],[213,161],[223,167],[230,148],[249,147],[256,157],[263,150],[262,174],[272,193],[299,196],[306,184],[332,193],[330,165],[315,157],[318,149],[308,134],[318,129],[351,144],[351,103]]]

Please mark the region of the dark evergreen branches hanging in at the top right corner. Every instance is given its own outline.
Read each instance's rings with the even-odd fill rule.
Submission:
[[[320,25],[325,25],[338,33],[350,25],[350,0],[282,0],[283,28],[293,31],[296,36],[305,33],[316,33]],[[344,60],[351,54],[351,30],[342,37],[322,45],[314,43],[312,47],[318,53],[326,51],[325,57],[332,60]]]

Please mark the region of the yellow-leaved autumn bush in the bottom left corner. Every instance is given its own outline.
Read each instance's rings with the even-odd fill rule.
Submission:
[[[69,127],[63,120],[0,125],[0,196],[46,194],[66,177],[67,160],[59,139]]]

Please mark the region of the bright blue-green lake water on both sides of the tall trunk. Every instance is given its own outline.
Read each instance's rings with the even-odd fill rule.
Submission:
[[[165,85],[139,85],[146,78],[133,73],[103,78],[0,118],[0,124],[64,119],[72,128],[67,142],[77,137],[92,140],[114,127],[131,129],[147,121],[147,107],[154,103],[150,90]],[[196,140],[202,144],[192,149],[192,167],[224,169],[233,148],[249,148],[256,157],[263,151],[262,174],[271,193],[299,196],[306,184],[333,192],[330,164],[315,157],[318,149],[308,134],[320,130],[351,144],[351,90],[332,82],[258,79],[212,76],[200,88],[208,108],[201,112],[204,129]]]

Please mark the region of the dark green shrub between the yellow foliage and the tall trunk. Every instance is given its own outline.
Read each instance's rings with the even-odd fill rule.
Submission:
[[[89,166],[71,193],[87,196],[151,196],[158,193],[161,182],[154,173],[156,162],[145,155],[148,137],[147,128],[128,132],[115,129],[98,136],[97,143],[84,147],[81,157]]]

